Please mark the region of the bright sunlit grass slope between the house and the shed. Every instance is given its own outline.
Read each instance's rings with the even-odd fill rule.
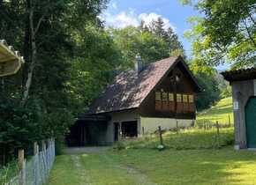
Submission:
[[[211,122],[220,122],[227,124],[229,122],[229,115],[230,115],[230,122],[234,123],[233,118],[233,109],[232,109],[232,98],[225,98],[220,100],[214,107],[211,107],[207,110],[200,112],[197,115],[198,121],[211,121]]]

